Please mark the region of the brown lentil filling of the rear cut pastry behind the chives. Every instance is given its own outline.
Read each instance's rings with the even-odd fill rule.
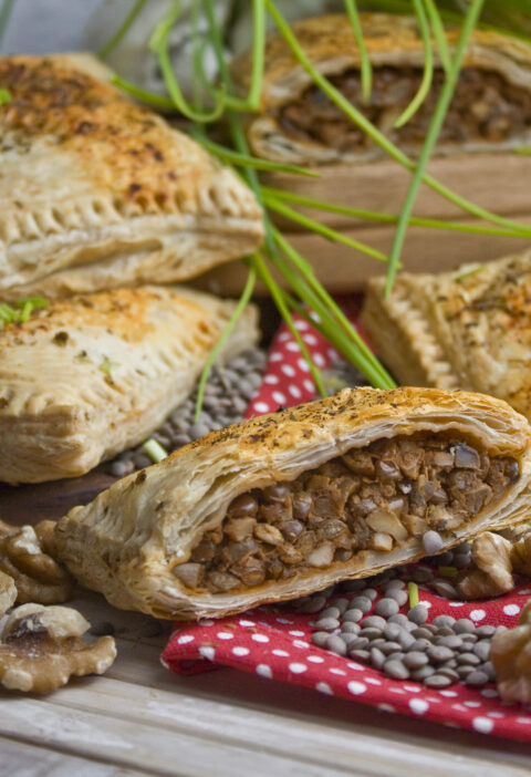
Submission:
[[[362,102],[357,70],[330,81],[394,143],[420,146],[444,83],[440,70],[434,72],[433,87],[413,118],[403,127],[393,125],[416,94],[421,77],[418,68],[375,68],[369,105]],[[306,89],[299,100],[282,106],[277,116],[287,135],[303,142],[321,143],[337,152],[361,152],[374,145],[317,86]],[[510,84],[498,73],[465,68],[439,139],[442,145],[500,142],[530,128],[531,92]]]

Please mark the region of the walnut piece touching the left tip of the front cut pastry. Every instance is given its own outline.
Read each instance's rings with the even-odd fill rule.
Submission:
[[[17,587],[17,602],[58,604],[70,599],[72,579],[43,546],[50,547],[50,521],[41,521],[39,533],[32,526],[10,526],[0,520],[0,571]]]

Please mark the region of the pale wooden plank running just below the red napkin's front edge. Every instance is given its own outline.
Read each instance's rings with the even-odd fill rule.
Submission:
[[[152,688],[146,701],[145,691],[134,684],[106,678],[104,682],[95,682],[90,694],[74,687],[71,693],[64,691],[55,694],[52,701],[72,709],[97,712],[107,700],[107,715],[117,716],[121,721],[138,722],[138,713],[142,711],[145,725],[165,728],[171,739],[189,734],[205,742],[248,747],[251,752],[259,747],[260,752],[274,754],[285,760],[294,759],[301,765],[309,764],[337,771],[348,769],[353,759],[364,764],[366,774],[394,774],[397,777],[408,777],[414,765],[434,777],[446,777],[448,770],[459,777],[468,777],[479,766],[485,777],[498,777],[500,764],[509,767],[507,774],[520,774],[521,767],[529,768],[528,759],[511,758],[507,753],[492,758],[490,755],[481,755],[479,748],[471,748],[467,757],[465,748],[448,747],[448,743],[442,746],[446,757],[445,763],[441,763],[434,758],[434,747],[439,753],[442,752],[437,740],[421,743],[416,737],[407,742],[391,731],[386,734],[389,750],[393,752],[389,758],[389,752],[375,752],[375,740],[381,732],[371,731],[362,722],[363,717],[354,725],[351,722],[350,725],[339,726],[326,716],[314,714],[301,717],[287,711],[278,714],[277,711],[260,708],[260,704],[250,712],[247,705],[197,697],[192,688],[188,693],[187,688],[194,685],[189,681],[190,678],[181,681],[173,691]],[[277,686],[278,691],[282,687],[280,684]],[[316,701],[314,696],[313,709],[316,708]],[[347,702],[343,704],[348,706]]]

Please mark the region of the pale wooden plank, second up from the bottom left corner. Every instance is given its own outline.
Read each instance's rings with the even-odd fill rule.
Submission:
[[[106,685],[105,678],[94,683]],[[92,758],[96,752],[102,760],[113,766],[145,769],[157,775],[211,777],[214,773],[217,777],[235,777],[252,773],[280,777],[336,777],[341,774],[325,763],[315,766],[306,759],[300,762],[289,752],[285,755],[264,752],[259,742],[253,743],[252,748],[231,742],[223,736],[222,718],[218,718],[219,732],[204,738],[200,729],[169,732],[166,726],[150,725],[145,706],[138,709],[138,718],[112,715],[110,709],[115,709],[113,697],[103,691],[102,700],[103,708],[86,712],[50,700],[2,698],[0,733],[31,744],[60,748],[70,755]],[[201,708],[196,708],[195,715],[200,714]],[[363,770],[361,774],[371,773]]]

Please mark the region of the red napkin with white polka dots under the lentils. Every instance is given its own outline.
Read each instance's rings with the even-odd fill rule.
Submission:
[[[358,305],[360,298],[344,301],[344,309],[355,323]],[[324,338],[302,319],[296,319],[295,325],[317,366],[331,366],[337,354]],[[306,402],[314,395],[308,365],[291,333],[282,325],[248,416],[273,412],[279,405]],[[476,603],[448,601],[421,587],[419,592],[420,601],[429,608],[428,621],[439,614],[449,614],[456,619],[469,618],[477,625],[513,628],[531,595],[531,587],[521,586],[502,598]],[[407,612],[407,605],[400,612]],[[288,602],[282,607],[269,605],[217,621],[202,620],[186,626],[178,624],[162,660],[177,674],[232,666],[387,712],[424,717],[482,734],[531,740],[531,706],[501,702],[493,684],[479,690],[459,683],[436,691],[413,681],[389,680],[372,667],[312,645],[315,618],[296,612]]]

